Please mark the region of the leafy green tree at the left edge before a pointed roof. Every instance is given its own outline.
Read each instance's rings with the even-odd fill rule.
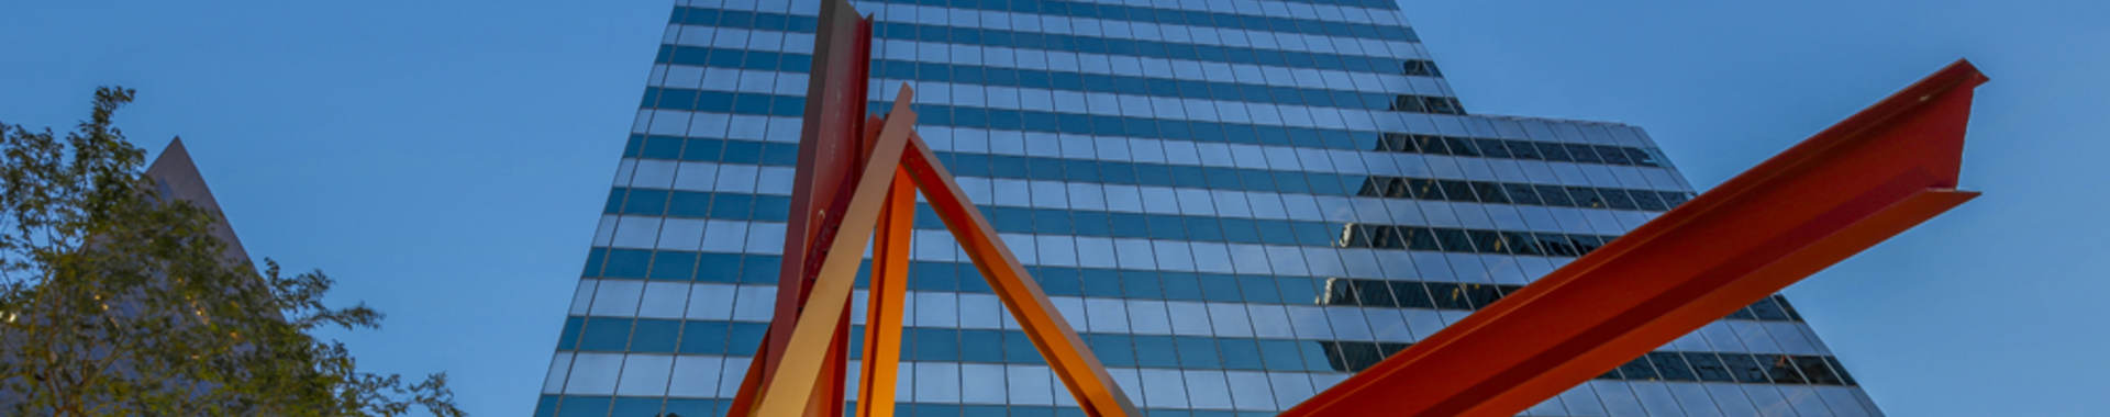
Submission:
[[[329,307],[323,272],[262,272],[211,236],[215,213],[165,198],[95,91],[63,139],[0,124],[0,415],[462,415],[445,373],[361,373],[319,329],[378,329]]]

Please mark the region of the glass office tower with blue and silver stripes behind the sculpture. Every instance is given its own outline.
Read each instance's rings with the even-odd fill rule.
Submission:
[[[871,110],[914,84],[924,139],[1154,417],[1283,411],[1692,198],[1635,126],[1469,114],[1393,0],[855,6]],[[538,415],[730,402],[774,303],[817,13],[673,6]],[[916,225],[901,415],[1078,415]],[[1526,415],[1880,411],[1772,297]]]

